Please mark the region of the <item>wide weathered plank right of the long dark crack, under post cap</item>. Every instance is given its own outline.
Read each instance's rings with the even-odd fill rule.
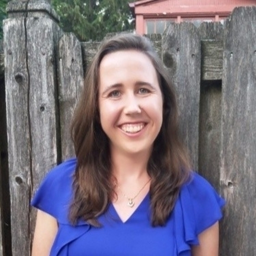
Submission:
[[[55,60],[60,34],[58,25],[50,18],[26,19],[32,195],[49,169],[60,160]],[[30,234],[33,236],[35,209],[31,212],[30,220]]]

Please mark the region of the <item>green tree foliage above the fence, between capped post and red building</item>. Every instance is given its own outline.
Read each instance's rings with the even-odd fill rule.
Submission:
[[[63,30],[81,41],[100,41],[107,33],[134,29],[128,0],[52,0],[52,6]]]

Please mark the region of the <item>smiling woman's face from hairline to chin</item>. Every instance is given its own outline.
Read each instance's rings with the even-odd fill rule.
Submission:
[[[99,113],[111,151],[149,152],[163,122],[156,70],[143,52],[112,52],[99,66]]]

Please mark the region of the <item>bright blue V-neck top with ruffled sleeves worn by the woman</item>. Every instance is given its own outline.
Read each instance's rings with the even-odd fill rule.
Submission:
[[[224,200],[203,177],[193,173],[181,187],[164,227],[150,224],[149,194],[125,223],[110,204],[98,218],[102,227],[82,220],[73,226],[68,210],[75,167],[76,159],[71,159],[52,169],[32,200],[34,207],[58,221],[50,256],[191,256],[190,246],[198,244],[198,234],[222,217]]]

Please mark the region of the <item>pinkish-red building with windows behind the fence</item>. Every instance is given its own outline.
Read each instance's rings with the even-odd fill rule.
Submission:
[[[140,0],[129,3],[138,34],[163,33],[170,22],[221,21],[236,6],[253,6],[256,0]]]

